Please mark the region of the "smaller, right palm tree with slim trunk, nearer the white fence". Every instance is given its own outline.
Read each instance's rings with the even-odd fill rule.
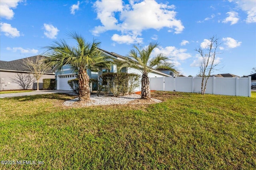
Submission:
[[[177,72],[173,63],[168,63],[170,60],[164,54],[158,54],[152,58],[150,55],[155,48],[158,48],[157,42],[150,43],[148,47],[143,48],[141,46],[134,45],[134,49],[130,50],[130,53],[125,61],[122,61],[119,65],[122,67],[130,67],[138,69],[142,73],[141,79],[141,98],[150,99],[150,88],[148,73],[153,69],[162,68]]]

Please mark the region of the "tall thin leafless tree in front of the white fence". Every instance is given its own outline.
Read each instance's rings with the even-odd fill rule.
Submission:
[[[218,42],[218,38],[214,35],[208,39],[208,43],[205,47],[199,47],[196,49],[201,56],[199,67],[199,75],[202,77],[201,94],[205,93],[207,80],[212,72],[216,70],[216,66],[220,64],[220,62],[216,62],[216,55],[221,54],[217,51],[217,47],[220,44],[221,43]]]

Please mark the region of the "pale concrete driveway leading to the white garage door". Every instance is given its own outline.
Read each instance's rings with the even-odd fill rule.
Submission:
[[[19,97],[19,96],[32,96],[37,94],[52,94],[52,93],[66,93],[70,95],[75,95],[74,92],[70,90],[39,90],[39,91],[33,91],[33,92],[0,94],[0,98],[12,98],[12,97]]]

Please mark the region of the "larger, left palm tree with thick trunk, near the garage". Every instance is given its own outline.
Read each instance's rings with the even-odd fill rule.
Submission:
[[[62,66],[68,64],[78,78],[78,98],[79,101],[90,100],[90,77],[87,70],[98,70],[98,67],[110,68],[111,61],[103,55],[98,47],[100,42],[93,40],[92,43],[86,40],[76,32],[68,34],[71,39],[76,40],[76,46],[70,46],[64,39],[54,41],[54,44],[48,47],[46,63],[54,66],[57,71],[62,70]]]

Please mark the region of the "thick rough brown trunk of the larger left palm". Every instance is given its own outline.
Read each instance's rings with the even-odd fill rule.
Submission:
[[[78,86],[79,86],[79,90],[78,90],[79,101],[90,100],[90,86],[89,86],[90,77],[87,74],[86,70],[84,69],[79,70],[77,78],[78,78]]]

